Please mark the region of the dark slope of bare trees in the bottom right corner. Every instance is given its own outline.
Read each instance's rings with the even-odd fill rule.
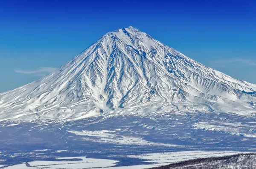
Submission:
[[[256,169],[256,154],[197,158],[151,169]]]

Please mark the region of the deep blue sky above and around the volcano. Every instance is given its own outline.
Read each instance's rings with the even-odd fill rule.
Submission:
[[[133,26],[206,66],[256,83],[256,3],[236,0],[0,1],[0,92]]]

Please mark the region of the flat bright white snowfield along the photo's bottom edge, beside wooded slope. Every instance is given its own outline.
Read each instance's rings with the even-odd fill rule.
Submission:
[[[115,166],[117,160],[96,159],[86,157],[68,157],[56,158],[56,160],[64,159],[79,159],[73,161],[32,161],[30,166],[25,163],[14,166],[7,166],[4,169],[148,169],[156,166],[168,165],[180,161],[207,158],[207,157],[221,157],[227,155],[235,155],[239,152],[228,151],[186,151],[186,152],[167,152],[167,153],[153,153],[142,155],[130,155],[130,158],[140,158],[146,160],[148,164],[136,166]]]

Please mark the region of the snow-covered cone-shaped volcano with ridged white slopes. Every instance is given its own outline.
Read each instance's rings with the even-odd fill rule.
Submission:
[[[0,120],[168,113],[256,113],[256,85],[186,57],[133,27],[108,32],[47,76],[0,94]]]

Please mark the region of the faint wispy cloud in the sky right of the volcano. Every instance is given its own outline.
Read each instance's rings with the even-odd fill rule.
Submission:
[[[218,66],[224,66],[224,64],[231,63],[242,63],[243,66],[256,66],[256,61],[250,59],[242,59],[242,58],[232,58],[227,60],[215,60],[213,61],[215,64],[219,64]]]

